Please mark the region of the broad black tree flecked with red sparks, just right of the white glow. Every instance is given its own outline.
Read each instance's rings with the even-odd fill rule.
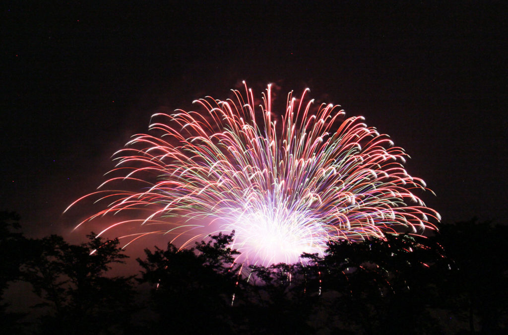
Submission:
[[[431,279],[447,263],[434,239],[390,234],[362,242],[332,241],[325,257],[304,256],[311,260],[308,285],[321,292],[321,318],[332,331],[436,331],[427,312],[437,295]]]

